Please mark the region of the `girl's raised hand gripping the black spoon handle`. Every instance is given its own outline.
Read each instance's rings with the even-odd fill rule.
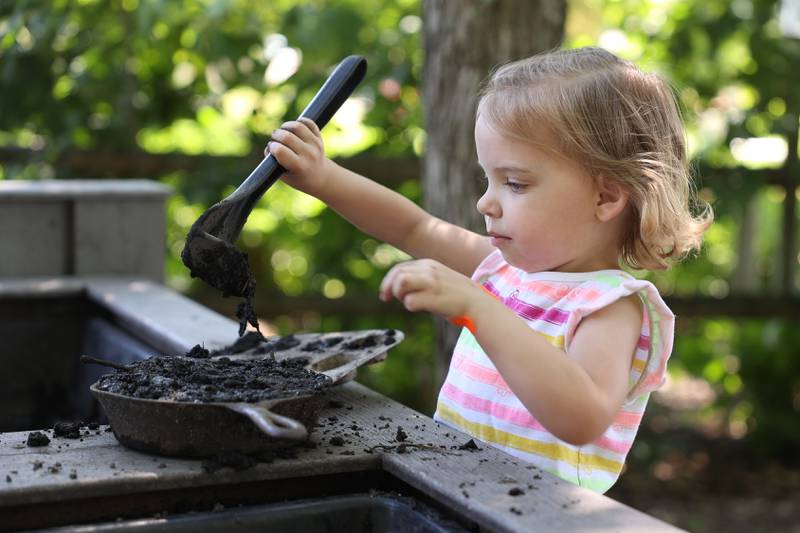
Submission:
[[[310,118],[281,124],[264,149],[264,155],[269,154],[286,169],[283,179],[292,187],[314,195],[324,186],[330,161],[325,157],[322,134]]]

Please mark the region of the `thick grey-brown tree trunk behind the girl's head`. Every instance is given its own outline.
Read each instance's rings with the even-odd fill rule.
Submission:
[[[430,213],[485,231],[475,208],[481,194],[473,136],[480,83],[497,65],[555,48],[565,17],[566,0],[423,2],[423,190]],[[441,380],[459,330],[440,319],[435,329]]]

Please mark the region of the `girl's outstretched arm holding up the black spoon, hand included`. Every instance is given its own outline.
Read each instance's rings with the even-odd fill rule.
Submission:
[[[403,195],[327,159],[319,128],[309,119],[283,124],[273,132],[267,151],[287,170],[286,183],[415,258],[435,259],[469,276],[494,250],[488,237],[436,218]]]

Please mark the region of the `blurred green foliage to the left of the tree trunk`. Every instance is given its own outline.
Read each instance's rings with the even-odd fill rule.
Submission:
[[[0,146],[43,154],[34,163],[3,164],[0,176],[85,177],[55,167],[70,148],[261,151],[269,134],[296,118],[335,64],[353,53],[367,57],[369,75],[350,107],[325,128],[328,154],[418,155],[419,9],[416,0],[0,4]],[[241,165],[224,162],[149,176],[175,190],[167,206],[168,284],[190,293],[198,287],[179,259],[186,233],[245,176]],[[418,184],[400,188],[420,200]],[[281,183],[253,210],[239,246],[249,254],[263,300],[353,294],[377,300],[383,273],[405,257]],[[332,316],[316,327],[389,327],[392,320],[415,333],[382,369],[366,370],[365,379],[430,409],[435,388],[427,317]],[[288,317],[277,323],[283,331],[300,326]],[[427,388],[415,391],[419,384]]]

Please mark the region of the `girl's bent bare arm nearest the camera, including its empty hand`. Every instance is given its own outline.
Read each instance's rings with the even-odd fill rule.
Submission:
[[[635,296],[585,317],[566,353],[476,282],[435,261],[393,268],[381,285],[381,299],[392,296],[410,311],[469,316],[475,338],[511,391],[565,442],[581,445],[598,438],[625,401],[642,325]]]

